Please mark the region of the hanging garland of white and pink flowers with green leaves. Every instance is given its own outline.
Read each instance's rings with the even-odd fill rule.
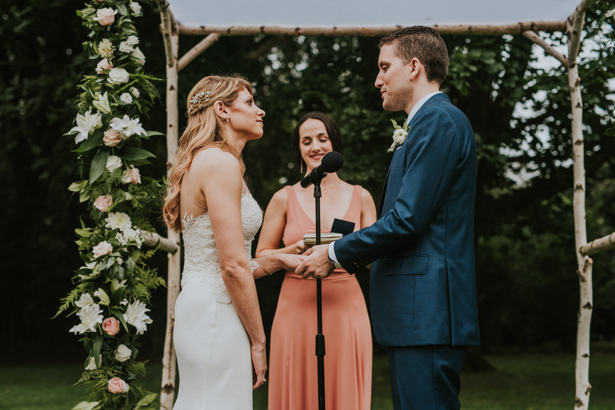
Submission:
[[[151,3],[151,0],[141,0]],[[62,299],[58,314],[76,313],[81,323],[70,329],[82,337],[87,358],[77,383],[84,384],[90,401],[74,409],[146,410],[156,393],[137,383],[145,362],[137,361],[138,337],[152,323],[146,312],[151,290],[165,285],[155,269],[146,266],[154,250],[141,251],[143,235],[153,232],[149,218],[160,209],[161,181],[141,176],[138,166],[149,165],[143,140],[162,135],[143,129],[159,94],[143,74],[145,55],[133,18],[143,15],[130,0],[90,0],[77,11],[90,33],[83,43],[90,59],[98,60],[92,75],[78,86],[76,126],[81,181],[69,186],[79,201],[89,205],[92,227],[75,229],[84,266],[76,270],[76,287]],[[87,179],[84,176],[87,175]],[[56,316],[57,316],[56,315]]]

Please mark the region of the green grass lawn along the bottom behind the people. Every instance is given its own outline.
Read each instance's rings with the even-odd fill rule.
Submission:
[[[461,375],[464,410],[571,410],[574,405],[573,355],[491,356],[496,371]],[[374,358],[371,408],[392,410],[386,357]],[[78,365],[0,367],[0,409],[69,410],[81,400]],[[161,366],[149,366],[144,387],[159,389]],[[615,410],[615,356],[593,355],[590,409]],[[254,395],[255,410],[267,408],[267,390]],[[341,410],[341,409],[331,409]]]

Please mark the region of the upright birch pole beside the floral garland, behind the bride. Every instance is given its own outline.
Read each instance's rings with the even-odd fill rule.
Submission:
[[[167,175],[175,160],[178,145],[178,105],[177,105],[177,50],[179,33],[177,23],[166,0],[156,0],[161,13],[162,37],[167,60]],[[169,240],[180,247],[180,234],[169,231]],[[175,368],[177,358],[173,347],[173,327],[175,326],[175,301],[180,293],[180,255],[169,253],[169,275],[167,278],[167,331],[164,337],[162,355],[162,383],[160,409],[173,408],[175,398]]]

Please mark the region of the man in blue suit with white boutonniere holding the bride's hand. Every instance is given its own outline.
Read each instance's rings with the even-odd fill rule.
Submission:
[[[296,273],[324,278],[336,266],[354,274],[371,264],[371,320],[387,346],[394,409],[459,409],[466,346],[479,344],[474,133],[438,90],[448,52],[437,31],[402,28],[379,49],[383,108],[405,110],[411,126],[392,153],[379,219],[314,246]]]

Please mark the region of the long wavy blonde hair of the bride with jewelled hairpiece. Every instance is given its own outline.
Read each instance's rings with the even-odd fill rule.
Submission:
[[[186,102],[188,125],[181,134],[175,162],[167,178],[167,194],[162,206],[164,221],[172,231],[181,231],[181,182],[198,152],[211,147],[219,147],[231,152],[239,161],[243,175],[245,165],[241,153],[229,143],[224,120],[213,111],[213,103],[222,101],[224,104],[231,105],[243,89],[247,89],[252,94],[252,84],[245,77],[234,74],[233,76],[204,77],[190,90]],[[197,97],[199,93],[204,93],[205,97]],[[191,103],[191,100],[199,102]]]

